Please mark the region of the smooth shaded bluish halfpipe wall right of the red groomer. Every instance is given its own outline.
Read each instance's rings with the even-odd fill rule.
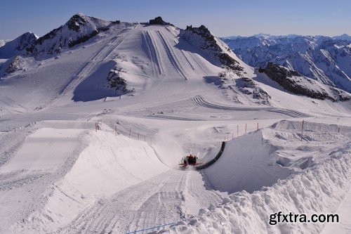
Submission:
[[[277,148],[263,138],[263,132],[256,131],[228,141],[222,157],[204,169],[203,174],[216,190],[252,193],[263,186],[272,186],[279,178],[286,178],[293,172],[274,162],[272,152],[275,150]]]

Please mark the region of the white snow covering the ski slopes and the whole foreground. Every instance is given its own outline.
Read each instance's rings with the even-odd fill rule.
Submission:
[[[40,59],[1,77],[1,233],[126,233],[174,222],[166,232],[317,233],[322,223],[269,226],[268,216],[348,214],[338,205],[349,201],[350,101],[288,93],[228,51],[270,95],[259,103],[234,85],[239,75],[208,82],[230,72],[179,34],[121,22],[62,47],[58,59],[45,53],[55,37]],[[106,81],[119,68],[134,89],[121,96]],[[211,160],[222,141],[213,166],[178,170],[190,152]]]

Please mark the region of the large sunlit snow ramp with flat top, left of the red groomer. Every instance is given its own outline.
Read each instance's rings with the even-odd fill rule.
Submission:
[[[105,124],[87,130],[91,124],[38,123],[45,127],[1,167],[1,233],[58,230],[89,205],[169,169],[149,144]]]

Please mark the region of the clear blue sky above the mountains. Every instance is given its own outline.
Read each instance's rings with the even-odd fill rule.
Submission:
[[[1,0],[0,39],[42,36],[74,13],[147,22],[161,15],[181,28],[205,25],[217,36],[351,34],[351,0]]]

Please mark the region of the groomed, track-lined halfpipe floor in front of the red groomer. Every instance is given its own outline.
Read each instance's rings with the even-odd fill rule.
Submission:
[[[198,171],[169,170],[98,200],[58,233],[124,233],[149,228],[186,219],[220,200],[215,192],[204,188]]]

